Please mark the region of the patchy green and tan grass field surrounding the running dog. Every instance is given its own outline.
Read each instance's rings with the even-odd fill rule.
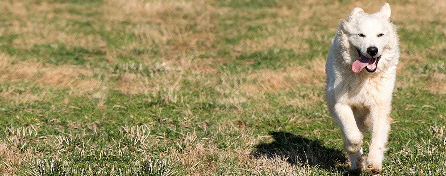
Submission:
[[[382,175],[446,175],[446,1],[388,2]],[[325,60],[352,8],[384,3],[0,1],[0,176],[351,175]]]

